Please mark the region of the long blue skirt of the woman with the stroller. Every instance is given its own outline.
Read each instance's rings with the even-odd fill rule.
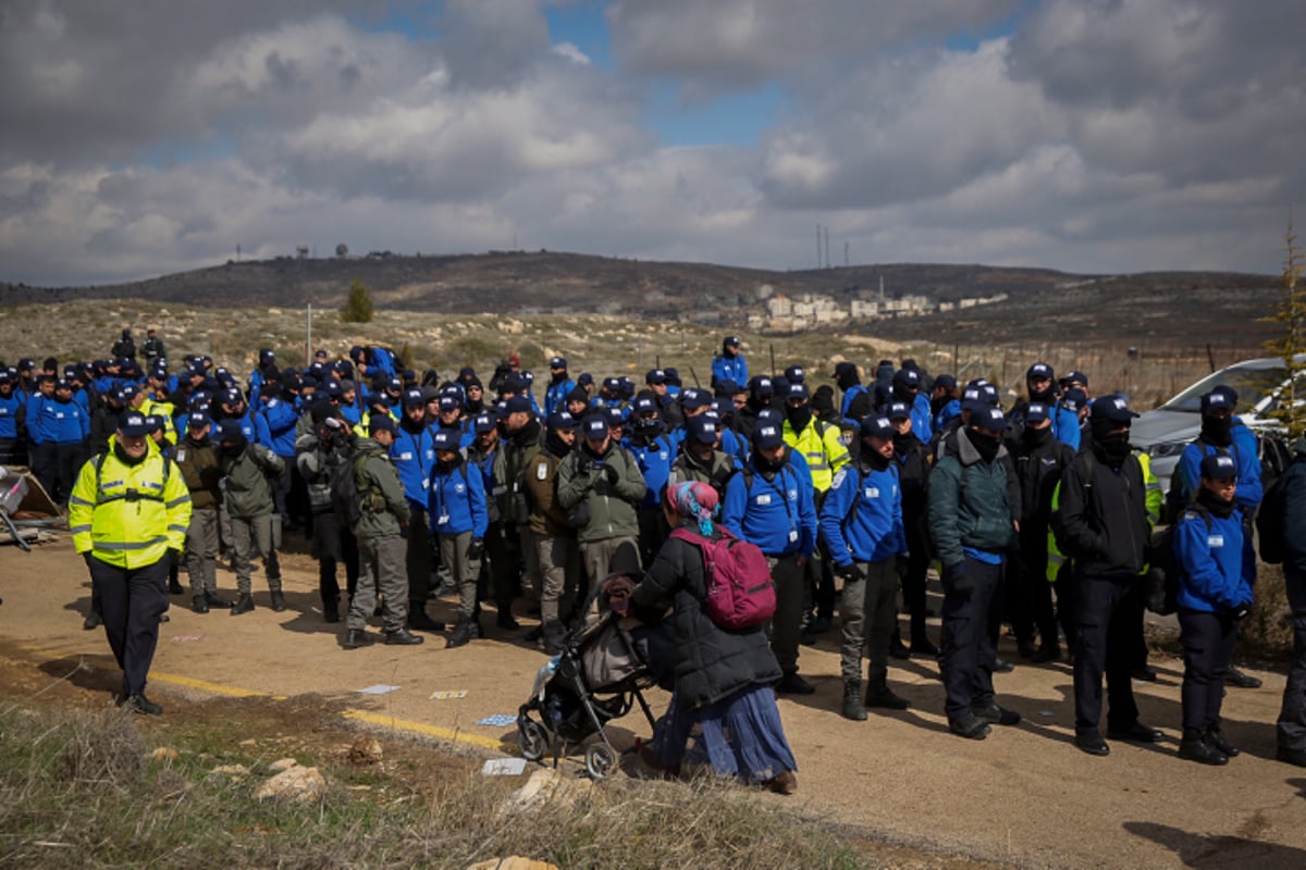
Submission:
[[[697,710],[680,708],[673,693],[653,729],[653,746],[663,767],[707,763],[721,776],[744,783],[765,783],[798,770],[780,724],[776,694],[765,685]]]

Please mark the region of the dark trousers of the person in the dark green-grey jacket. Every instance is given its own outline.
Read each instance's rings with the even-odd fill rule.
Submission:
[[[965,570],[974,582],[970,595],[959,595],[949,584],[943,586],[939,667],[947,693],[943,708],[948,719],[959,719],[993,703],[1003,565],[989,565],[966,556]]]

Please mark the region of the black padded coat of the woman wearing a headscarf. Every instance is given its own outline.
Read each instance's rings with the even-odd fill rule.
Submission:
[[[704,609],[705,596],[703,550],[678,537],[666,539],[631,595],[631,603],[645,614],[665,608],[667,601],[673,605],[662,629],[673,635],[675,697],[686,710],[757,683],[772,683],[781,676],[765,627],[718,629]]]

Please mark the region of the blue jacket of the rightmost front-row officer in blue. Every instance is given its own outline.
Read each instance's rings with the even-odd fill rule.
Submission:
[[[1242,513],[1209,517],[1208,528],[1190,509],[1174,528],[1174,558],[1183,569],[1177,603],[1182,609],[1220,613],[1250,604],[1251,584],[1242,570]]]

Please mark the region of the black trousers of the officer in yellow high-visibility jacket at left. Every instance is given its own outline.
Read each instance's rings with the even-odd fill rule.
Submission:
[[[104,635],[123,669],[123,697],[145,691],[145,678],[159,642],[159,616],[167,609],[167,567],[125,569],[89,560],[93,607],[104,621]]]

